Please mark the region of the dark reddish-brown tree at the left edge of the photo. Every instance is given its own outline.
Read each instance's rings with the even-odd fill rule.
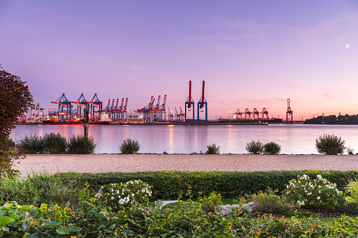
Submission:
[[[1,65],[0,65],[1,66]],[[2,69],[2,67],[0,67]],[[20,77],[0,70],[0,174],[11,173],[15,159],[23,153],[8,139],[15,121],[32,103],[32,95]]]

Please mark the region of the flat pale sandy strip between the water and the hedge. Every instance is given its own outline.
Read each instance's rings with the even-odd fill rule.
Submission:
[[[272,171],[358,170],[358,155],[254,154],[27,154],[15,164],[23,175],[32,171],[80,173],[136,171]]]

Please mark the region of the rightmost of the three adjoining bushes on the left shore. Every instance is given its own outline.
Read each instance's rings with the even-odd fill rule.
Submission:
[[[72,135],[68,140],[68,154],[93,154],[96,145],[93,137]]]

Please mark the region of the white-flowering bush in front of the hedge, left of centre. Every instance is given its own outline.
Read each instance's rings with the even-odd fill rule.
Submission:
[[[151,186],[141,180],[130,180],[127,183],[111,183],[101,187],[102,193],[98,192],[95,196],[102,199],[114,211],[123,207],[130,207],[135,204],[148,204],[149,197],[152,195]]]

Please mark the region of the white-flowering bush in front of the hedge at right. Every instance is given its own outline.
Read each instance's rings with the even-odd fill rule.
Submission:
[[[298,176],[298,179],[288,181],[286,194],[290,201],[295,204],[309,208],[321,206],[340,206],[345,204],[347,198],[339,191],[335,183],[317,175],[317,179],[310,179],[309,176]]]

